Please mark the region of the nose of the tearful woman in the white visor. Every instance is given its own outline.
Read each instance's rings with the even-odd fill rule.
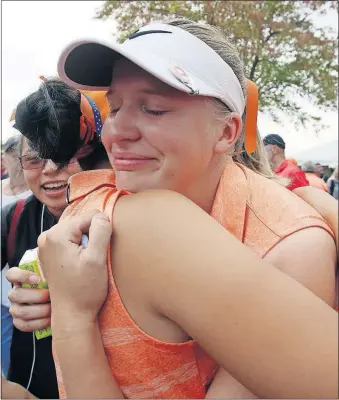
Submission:
[[[135,141],[140,139],[137,117],[133,116],[132,110],[123,107],[114,117],[105,122],[105,135],[111,137],[113,142]]]

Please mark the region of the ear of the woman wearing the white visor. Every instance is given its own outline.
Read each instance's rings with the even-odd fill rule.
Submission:
[[[242,130],[242,120],[239,114],[231,114],[227,118],[222,134],[220,135],[214,152],[217,154],[225,154],[230,152],[238,140]]]

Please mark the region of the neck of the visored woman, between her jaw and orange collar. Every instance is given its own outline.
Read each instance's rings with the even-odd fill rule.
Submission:
[[[231,158],[229,158],[226,163],[229,162],[233,163]],[[224,160],[220,161],[218,165],[209,169],[201,179],[197,180],[194,185],[190,186],[187,191],[181,192],[181,194],[210,214],[226,163]]]

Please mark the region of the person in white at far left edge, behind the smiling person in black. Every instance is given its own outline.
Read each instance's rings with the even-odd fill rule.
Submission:
[[[15,203],[19,199],[25,199],[32,192],[28,190],[24,179],[24,174],[19,161],[19,142],[18,131],[14,132],[4,145],[4,153],[2,155],[8,178],[1,181],[1,207],[10,203]],[[9,312],[11,306],[8,300],[8,293],[11,285],[6,279],[8,264],[1,270],[1,373],[4,376],[8,374],[10,347],[13,333],[13,318]]]

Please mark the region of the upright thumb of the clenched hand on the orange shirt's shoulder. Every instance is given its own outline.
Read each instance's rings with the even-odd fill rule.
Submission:
[[[89,228],[89,239],[84,254],[99,264],[106,264],[107,247],[112,235],[112,224],[104,213],[94,215]]]

